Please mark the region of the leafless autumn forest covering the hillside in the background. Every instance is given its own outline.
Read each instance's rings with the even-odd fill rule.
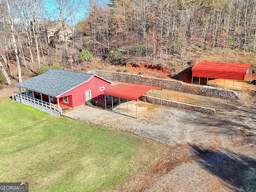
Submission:
[[[12,84],[14,66],[22,81],[26,70],[73,70],[83,62],[122,64],[136,57],[154,64],[178,55],[184,64],[198,52],[256,51],[255,0],[54,0],[54,14],[46,5],[0,0],[0,81]],[[78,12],[84,13],[79,22]],[[61,29],[49,38],[46,23],[53,20]]]

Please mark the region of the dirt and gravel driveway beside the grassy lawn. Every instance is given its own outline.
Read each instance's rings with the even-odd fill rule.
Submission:
[[[65,115],[167,144],[168,150],[160,149],[161,161],[129,178],[120,191],[241,191],[256,178],[255,92],[240,93],[236,101],[182,95],[184,102],[215,108],[216,114],[138,102],[138,119],[90,106]],[[172,97],[180,99],[175,92]],[[127,107],[127,103],[121,105],[122,109]],[[134,106],[129,102],[131,111]]]

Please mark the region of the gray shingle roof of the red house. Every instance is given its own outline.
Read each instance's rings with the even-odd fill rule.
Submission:
[[[57,97],[87,82],[93,76],[94,74],[52,68],[44,74],[16,84],[16,86]]]

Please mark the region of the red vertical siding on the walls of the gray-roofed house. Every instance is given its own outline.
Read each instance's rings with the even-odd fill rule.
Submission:
[[[91,98],[99,100],[104,98],[104,90],[100,91],[100,87],[104,87],[104,90],[106,90],[110,88],[110,82],[93,76],[88,82],[62,94],[59,97],[59,102],[73,108],[84,105],[86,103],[85,92],[88,90],[91,90]],[[68,96],[68,104],[63,102],[64,96]]]

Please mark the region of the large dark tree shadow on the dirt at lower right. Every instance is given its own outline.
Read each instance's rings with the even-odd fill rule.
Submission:
[[[256,178],[256,160],[228,149],[216,151],[190,145],[196,154],[196,162],[205,170],[230,184],[231,190],[243,190]],[[250,176],[250,178],[248,177]],[[230,186],[227,185],[230,188]]]

